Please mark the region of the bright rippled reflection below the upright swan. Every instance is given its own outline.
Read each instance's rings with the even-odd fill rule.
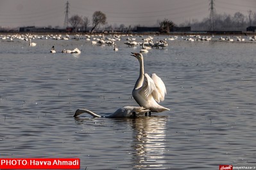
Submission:
[[[166,159],[166,120],[164,116],[132,120],[132,163],[134,168],[164,168]]]

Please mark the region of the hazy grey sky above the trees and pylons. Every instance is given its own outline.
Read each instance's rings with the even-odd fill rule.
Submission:
[[[0,0],[0,26],[64,26],[67,0]],[[100,10],[108,24],[152,26],[157,20],[175,24],[201,20],[210,15],[210,0],[69,0],[69,17],[80,15],[92,19]],[[233,15],[248,10],[256,12],[256,0],[215,0],[216,13]]]

